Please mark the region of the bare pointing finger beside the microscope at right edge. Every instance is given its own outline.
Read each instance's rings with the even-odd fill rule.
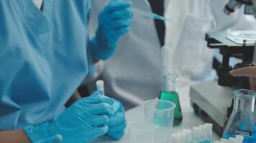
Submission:
[[[234,69],[229,72],[234,77],[256,77],[256,66]]]

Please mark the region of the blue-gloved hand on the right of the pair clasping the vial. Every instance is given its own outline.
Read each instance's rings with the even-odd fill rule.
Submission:
[[[109,137],[114,139],[120,139],[124,136],[124,129],[127,127],[127,122],[124,114],[124,107],[116,99],[111,99],[106,96],[102,96],[104,102],[111,104],[114,111],[113,114],[109,116]]]

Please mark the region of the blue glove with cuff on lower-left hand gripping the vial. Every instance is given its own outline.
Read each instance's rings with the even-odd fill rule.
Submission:
[[[24,132],[32,142],[61,134],[63,142],[90,142],[108,132],[109,116],[114,110],[105,103],[99,92],[74,103],[55,117],[52,122],[35,127],[25,127]]]

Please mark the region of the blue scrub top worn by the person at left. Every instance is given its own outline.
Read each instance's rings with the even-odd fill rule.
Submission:
[[[89,0],[0,1],[0,130],[51,121],[93,69]]]

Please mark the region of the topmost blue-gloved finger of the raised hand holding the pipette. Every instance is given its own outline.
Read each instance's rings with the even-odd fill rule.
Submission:
[[[112,1],[105,7],[106,13],[112,13],[114,11],[121,11],[132,7],[132,1]]]

